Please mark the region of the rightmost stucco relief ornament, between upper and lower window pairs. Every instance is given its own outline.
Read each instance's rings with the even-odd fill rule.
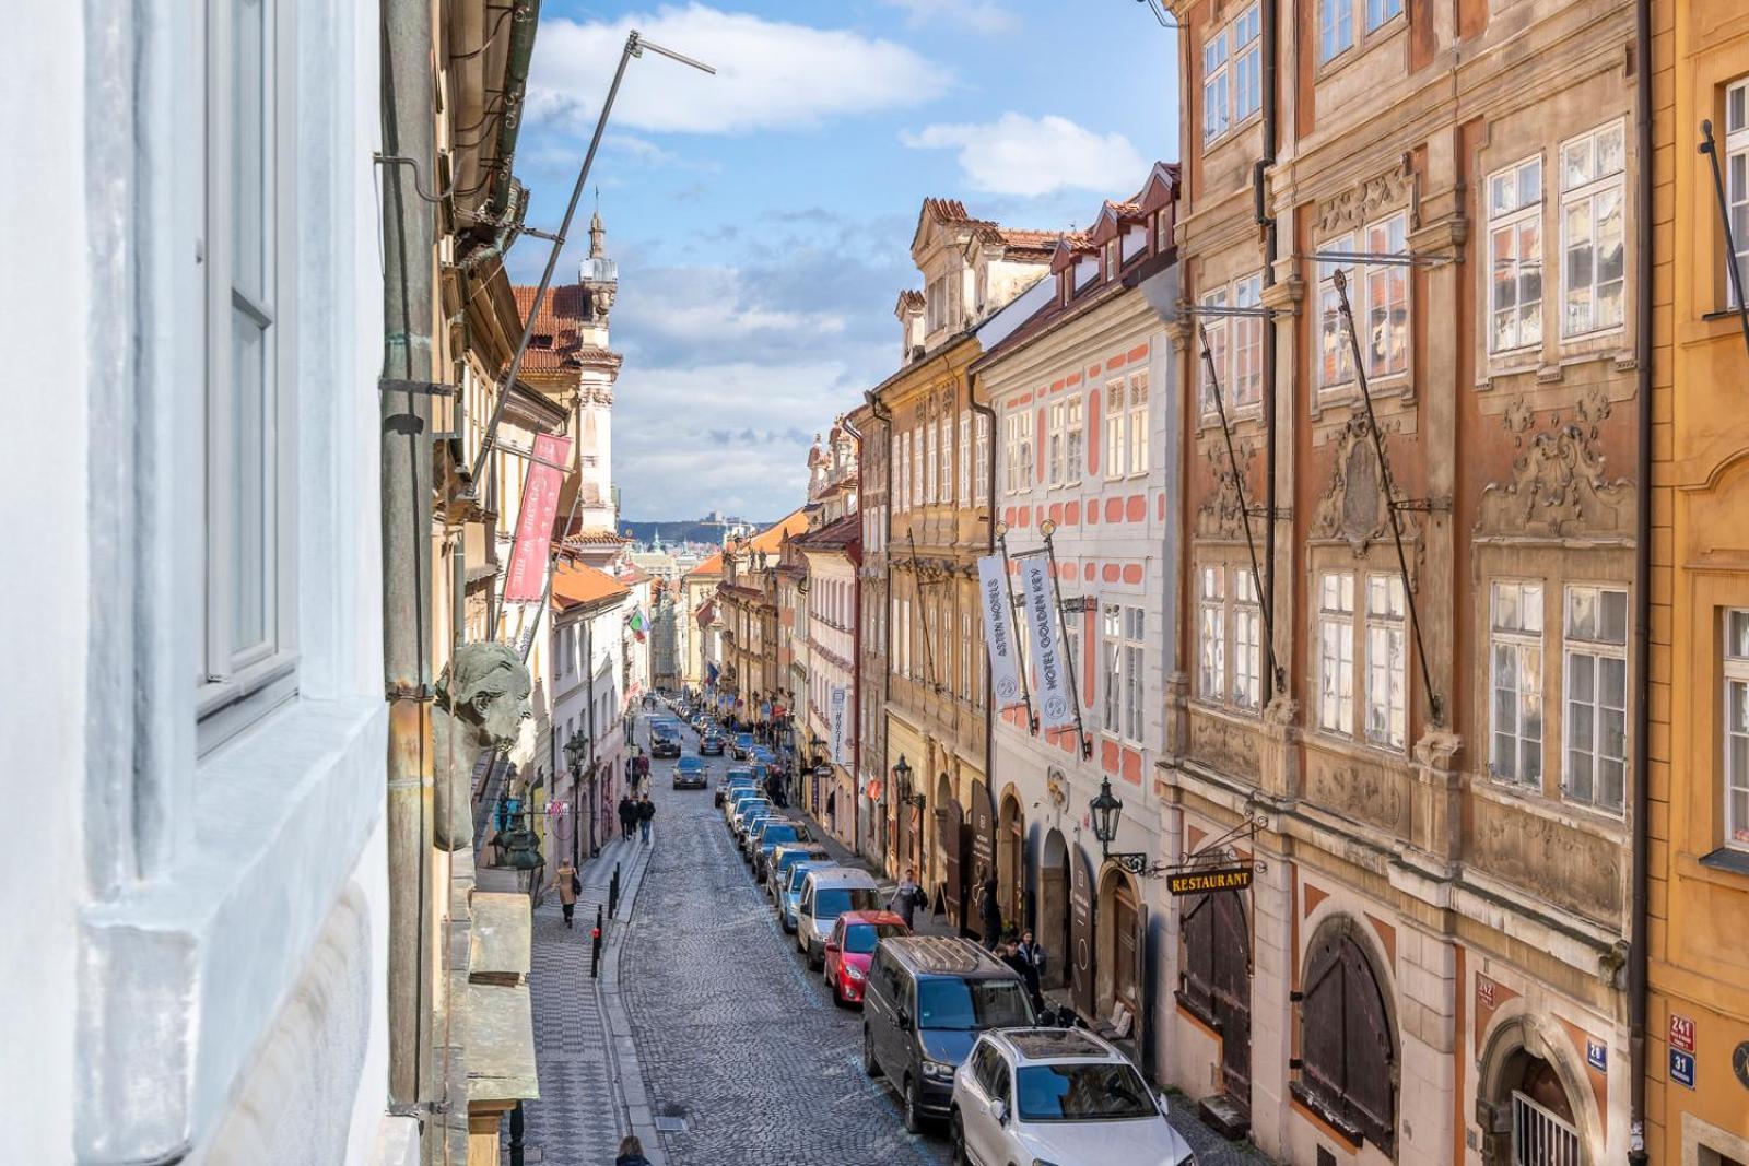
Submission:
[[[1625,533],[1634,488],[1625,477],[1604,477],[1604,455],[1597,449],[1611,411],[1609,399],[1593,388],[1572,407],[1572,421],[1562,423],[1557,409],[1548,430],[1530,435],[1534,409],[1513,402],[1502,425],[1522,453],[1513,460],[1509,482],[1490,482],[1481,491],[1476,531],[1557,538]]]

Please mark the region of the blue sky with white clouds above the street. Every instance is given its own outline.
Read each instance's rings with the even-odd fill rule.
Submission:
[[[925,196],[1067,229],[1177,157],[1175,33],[1135,0],[546,0],[516,154],[530,226],[558,226],[628,28],[719,70],[631,61],[591,175],[628,519],[803,500],[813,434],[897,367]],[[546,253],[519,241],[512,278]]]

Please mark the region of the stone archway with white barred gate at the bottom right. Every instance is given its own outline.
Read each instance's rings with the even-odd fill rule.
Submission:
[[[1481,1049],[1476,1117],[1485,1166],[1602,1161],[1602,1122],[1565,1033],[1527,1012],[1497,1021]]]

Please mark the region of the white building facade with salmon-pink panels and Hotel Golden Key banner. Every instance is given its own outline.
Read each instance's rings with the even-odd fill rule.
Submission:
[[[1090,233],[1063,236],[1046,306],[972,365],[974,404],[995,414],[999,545],[1016,572],[1021,556],[1055,559],[1063,610],[1053,633],[1067,636],[1077,704],[1074,724],[1041,732],[1030,670],[1025,699],[997,710],[992,855],[1002,914],[1035,930],[1049,956],[1046,982],[1067,988],[1090,1019],[1126,1014],[1139,1051],[1151,1049],[1170,1005],[1149,977],[1163,927],[1151,888],[1102,865],[1083,820],[1107,788],[1123,801],[1111,850],[1161,858],[1156,762],[1175,659],[1168,531],[1181,463],[1179,369],[1154,302],[1175,301],[1175,168],[1156,166],[1133,198],[1104,203]],[[1027,619],[1016,610],[1018,628]],[[1025,631],[1016,640],[1030,645]]]

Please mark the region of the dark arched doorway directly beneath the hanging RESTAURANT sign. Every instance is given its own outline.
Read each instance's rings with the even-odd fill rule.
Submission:
[[[1221,1033],[1221,1094],[1251,1117],[1251,927],[1247,892],[1184,900],[1179,1002]]]

